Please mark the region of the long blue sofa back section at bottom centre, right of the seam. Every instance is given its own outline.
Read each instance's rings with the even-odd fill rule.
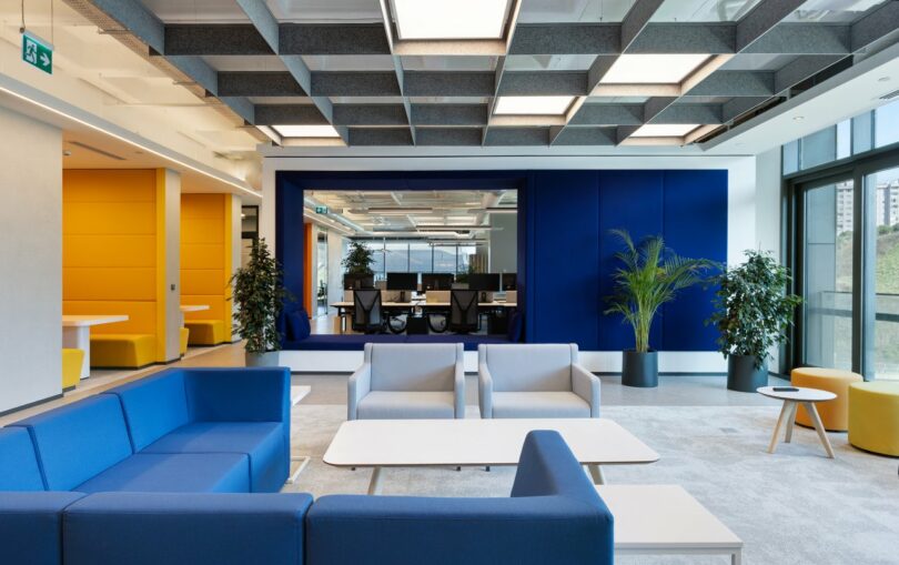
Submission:
[[[563,496],[323,496],[306,528],[312,564],[613,563],[612,515]]]

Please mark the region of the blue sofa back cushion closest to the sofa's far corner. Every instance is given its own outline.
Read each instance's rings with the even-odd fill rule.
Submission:
[[[103,394],[121,401],[134,452],[190,422],[181,371],[164,371]]]

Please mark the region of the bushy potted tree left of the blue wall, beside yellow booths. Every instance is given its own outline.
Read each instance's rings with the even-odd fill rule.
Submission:
[[[245,340],[246,366],[277,364],[281,333],[277,319],[287,292],[282,283],[281,266],[272,256],[265,239],[253,243],[246,266],[231,278],[232,300],[238,305],[234,323]]]

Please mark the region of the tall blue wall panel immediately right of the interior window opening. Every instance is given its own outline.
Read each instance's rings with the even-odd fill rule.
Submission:
[[[532,342],[596,350],[600,316],[599,191],[596,171],[539,171],[528,191],[533,238],[527,316]]]

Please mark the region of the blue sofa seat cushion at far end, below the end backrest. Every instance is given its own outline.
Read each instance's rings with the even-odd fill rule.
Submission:
[[[277,422],[200,422],[174,430],[141,453],[245,454],[251,492],[276,493],[290,472],[283,456],[283,427]]]

